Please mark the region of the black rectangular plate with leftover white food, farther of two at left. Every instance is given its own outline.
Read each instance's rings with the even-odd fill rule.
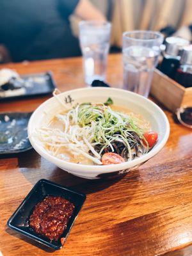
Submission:
[[[20,77],[24,80],[31,78],[35,79],[36,81],[33,81],[32,86],[26,87],[26,93],[17,96],[0,97],[0,101],[8,99],[24,99],[38,95],[48,95],[54,91],[54,88],[56,88],[56,84],[52,79],[51,72],[28,74]]]

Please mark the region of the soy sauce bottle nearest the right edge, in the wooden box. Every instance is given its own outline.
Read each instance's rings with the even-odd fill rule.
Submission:
[[[175,81],[188,88],[192,87],[192,45],[183,47],[180,54],[180,66],[175,74]]]

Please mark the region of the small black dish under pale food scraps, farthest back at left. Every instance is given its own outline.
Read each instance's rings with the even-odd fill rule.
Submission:
[[[48,95],[56,88],[51,72],[28,74],[20,77],[23,79],[22,82],[19,82],[16,79],[11,79],[10,83],[5,84],[3,88],[5,90],[13,90],[14,88],[17,89],[24,87],[26,90],[25,93],[22,95],[0,97],[1,101]],[[24,84],[26,84],[26,86],[24,86]]]

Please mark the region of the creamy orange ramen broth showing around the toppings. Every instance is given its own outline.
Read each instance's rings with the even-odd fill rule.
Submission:
[[[127,108],[124,107],[120,107],[120,106],[110,106],[110,108],[113,111],[117,111],[119,113],[124,113],[126,115],[129,115],[130,117],[134,117],[135,118],[135,124],[138,125],[138,127],[140,127],[141,129],[143,129],[143,131],[150,131],[151,129],[151,125],[150,122],[148,122],[147,120],[143,119],[143,117],[140,114],[134,113],[132,111],[130,111]],[[61,115],[65,115],[68,111],[64,111],[61,112]],[[60,120],[58,120],[58,118],[54,117],[52,118],[51,122],[49,123],[49,127],[52,129],[60,129],[60,131],[64,131],[65,129],[65,125],[63,124],[63,122],[61,122]],[[45,148],[47,150],[51,150],[51,146],[46,145]],[[68,149],[67,147],[60,147],[56,149],[56,152],[54,154],[54,156],[71,162],[71,163],[77,163],[77,164],[93,164],[93,161],[84,157],[83,155],[79,155],[79,156],[74,156],[71,153],[71,150]]]

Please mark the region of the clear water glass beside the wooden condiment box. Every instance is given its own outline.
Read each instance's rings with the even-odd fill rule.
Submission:
[[[124,89],[148,97],[163,35],[156,31],[123,33]]]

